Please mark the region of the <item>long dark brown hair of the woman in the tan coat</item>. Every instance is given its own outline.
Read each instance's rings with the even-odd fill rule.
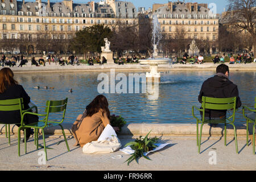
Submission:
[[[91,117],[93,114],[98,113],[102,109],[102,115],[105,114],[110,118],[109,103],[105,96],[98,95],[88,106],[86,106],[86,116]]]

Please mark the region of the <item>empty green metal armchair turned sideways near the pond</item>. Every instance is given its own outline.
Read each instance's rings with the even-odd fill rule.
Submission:
[[[65,111],[67,108],[67,103],[68,103],[68,98],[65,98],[65,100],[60,100],[60,101],[47,101],[46,102],[46,110],[45,110],[46,114],[38,114],[38,113],[31,113],[31,112],[25,112],[22,114],[22,121],[21,121],[22,126],[20,126],[19,130],[18,130],[18,154],[19,154],[19,156],[20,156],[20,129],[22,127],[35,129],[36,150],[38,150],[39,129],[42,129],[44,152],[46,154],[46,160],[47,160],[47,152],[46,152],[46,140],[44,138],[44,129],[46,129],[47,127],[52,127],[52,126],[60,126],[61,127],[64,139],[65,139],[65,143],[66,143],[66,146],[69,151],[67,138],[65,137],[63,126],[61,126],[61,123],[64,121],[64,118],[65,118]],[[63,113],[63,115],[62,115],[62,118],[60,119],[60,121],[49,121],[48,118],[49,118],[50,113]],[[25,125],[23,123],[23,118],[24,118],[24,115],[26,115],[26,114],[34,114],[34,115],[38,115],[39,117],[44,117],[44,118],[42,120],[39,120],[39,122],[37,122],[37,123]],[[26,132],[25,132],[24,138],[26,138]],[[26,153],[27,153],[27,143],[25,140],[25,154]]]

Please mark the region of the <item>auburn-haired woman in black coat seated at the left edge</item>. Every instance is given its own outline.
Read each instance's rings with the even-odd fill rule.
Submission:
[[[16,80],[13,78],[14,74],[10,68],[2,68],[0,71],[0,100],[9,100],[14,98],[23,98],[23,110],[27,110],[30,107],[28,104],[30,103],[30,97],[24,90],[22,85],[19,85]],[[26,114],[24,116],[24,123],[36,123],[38,122],[37,115]],[[6,124],[15,124],[16,126],[20,126],[21,118],[20,111],[0,111],[0,121],[1,123]],[[30,128],[26,129],[26,141],[32,134],[32,130]],[[24,142],[24,139],[23,139]]]

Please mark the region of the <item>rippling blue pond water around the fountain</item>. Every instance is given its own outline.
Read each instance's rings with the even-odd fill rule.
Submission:
[[[15,79],[23,85],[31,100],[38,106],[39,113],[44,112],[47,100],[62,100],[68,97],[65,122],[74,122],[77,115],[82,114],[86,105],[99,94],[97,91],[101,82],[97,80],[99,74],[17,73]],[[148,93],[104,93],[109,101],[110,113],[122,115],[129,123],[196,123],[192,117],[191,107],[192,105],[200,107],[197,97],[201,85],[214,75],[214,71],[170,71],[161,75],[159,97],[156,100],[151,100]],[[251,108],[254,106],[256,96],[255,79],[255,72],[230,72],[230,80],[238,85],[242,105]],[[34,86],[54,86],[55,89],[34,89]],[[68,92],[70,88],[73,89],[72,93]],[[236,122],[245,122],[241,108],[237,111],[236,118]]]

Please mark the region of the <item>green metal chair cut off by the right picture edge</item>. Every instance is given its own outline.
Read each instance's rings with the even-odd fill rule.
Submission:
[[[245,109],[251,111],[251,112],[256,112],[256,97],[255,97],[255,104],[254,104],[254,109],[250,109],[247,106],[243,106],[243,117],[246,119],[246,144],[247,146],[249,146],[248,144],[248,135],[249,135],[249,130],[248,130],[248,125],[249,123],[254,123],[253,125],[253,141],[251,143],[253,143],[253,154],[255,155],[255,125],[256,125],[256,118],[253,120],[251,118],[246,117],[245,115]]]

